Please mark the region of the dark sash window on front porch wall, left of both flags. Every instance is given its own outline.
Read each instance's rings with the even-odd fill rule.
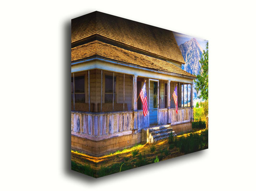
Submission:
[[[113,76],[105,75],[105,103],[113,103]],[[116,103],[116,76],[114,76],[114,103]]]

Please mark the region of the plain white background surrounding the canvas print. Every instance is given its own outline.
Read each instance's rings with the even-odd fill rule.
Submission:
[[[255,189],[254,9],[247,1],[3,1],[2,190]],[[71,19],[95,10],[209,40],[209,149],[99,179],[70,170]]]

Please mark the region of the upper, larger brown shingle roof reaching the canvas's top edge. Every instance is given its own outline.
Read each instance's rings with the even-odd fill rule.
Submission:
[[[98,34],[126,46],[185,64],[172,31],[98,11],[72,19],[71,22],[71,43]]]

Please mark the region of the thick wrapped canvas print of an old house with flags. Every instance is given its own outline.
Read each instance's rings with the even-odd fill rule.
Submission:
[[[72,170],[99,178],[207,148],[207,40],[98,11],[71,20]]]

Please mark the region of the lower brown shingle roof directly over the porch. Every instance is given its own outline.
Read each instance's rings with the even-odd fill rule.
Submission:
[[[137,52],[125,50],[123,48],[106,44],[98,40],[71,48],[71,62],[96,55],[116,61],[135,64],[150,69],[196,77],[173,65],[172,63],[146,56]]]

